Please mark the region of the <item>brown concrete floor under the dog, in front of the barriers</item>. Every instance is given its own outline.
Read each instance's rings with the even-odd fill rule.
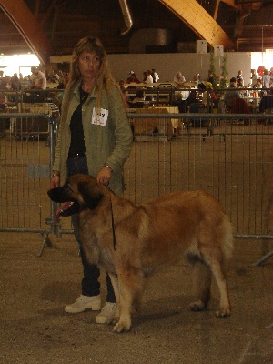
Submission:
[[[95,324],[95,312],[64,311],[79,295],[82,277],[72,236],[52,237],[41,258],[38,234],[0,233],[0,240],[1,363],[273,363],[273,258],[253,266],[272,241],[235,241],[227,276],[230,318],[215,317],[215,285],[207,311],[189,310],[191,268],[182,262],[150,280],[132,330],[116,334]]]

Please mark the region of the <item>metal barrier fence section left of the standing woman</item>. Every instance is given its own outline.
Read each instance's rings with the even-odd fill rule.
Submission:
[[[0,231],[55,231],[45,198],[54,157],[54,123],[43,114],[0,114]],[[47,241],[49,244],[49,240]]]

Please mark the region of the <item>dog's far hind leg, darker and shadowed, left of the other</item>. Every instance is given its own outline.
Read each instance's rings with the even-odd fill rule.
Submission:
[[[190,305],[190,309],[200,311],[207,308],[210,298],[211,270],[202,260],[196,260],[193,269],[197,301]]]

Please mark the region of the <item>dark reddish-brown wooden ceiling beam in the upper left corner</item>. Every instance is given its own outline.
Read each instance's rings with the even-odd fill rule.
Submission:
[[[13,22],[42,65],[48,64],[49,57],[53,53],[52,46],[25,2],[23,0],[0,0],[0,7]]]

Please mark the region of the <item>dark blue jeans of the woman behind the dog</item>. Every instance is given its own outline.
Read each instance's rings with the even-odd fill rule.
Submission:
[[[68,158],[67,171],[68,171],[68,177],[76,175],[76,173],[88,175],[87,158],[86,157]],[[82,279],[82,294],[84,296],[97,296],[100,293],[100,283],[98,281],[100,271],[95,264],[90,264],[87,261],[86,253],[82,248],[82,241],[79,234],[78,214],[72,215],[72,225],[74,228],[74,235],[76,241],[79,245],[80,255],[84,267],[84,277]],[[116,297],[113,286],[111,284],[111,279],[107,274],[106,274],[106,286],[107,286],[106,301],[116,302]]]

